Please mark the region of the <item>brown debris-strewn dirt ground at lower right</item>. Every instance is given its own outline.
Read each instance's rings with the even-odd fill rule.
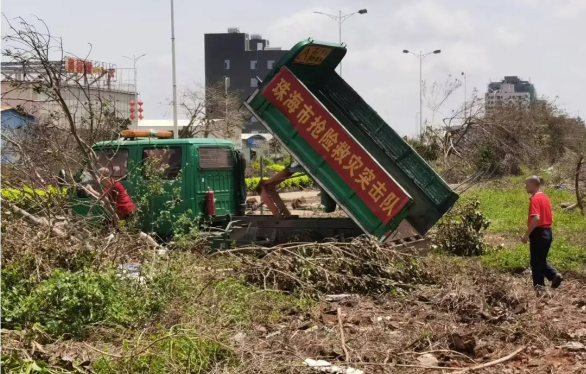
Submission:
[[[364,373],[586,373],[586,286],[570,280],[537,296],[524,277],[468,267],[447,284],[347,296],[245,334],[247,350],[291,365],[297,357]]]

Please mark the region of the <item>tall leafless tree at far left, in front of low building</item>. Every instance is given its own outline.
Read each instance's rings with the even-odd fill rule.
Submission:
[[[114,99],[104,95],[99,77],[88,71],[88,56],[79,60],[81,73],[67,73],[62,39],[51,35],[43,20],[36,19],[38,27],[2,16],[9,28],[2,36],[2,101],[18,102],[15,109],[35,116],[19,129],[2,132],[13,155],[2,166],[2,186],[46,190],[69,181],[75,189],[74,176],[83,168],[96,180],[104,155],[93,150],[93,143],[116,138],[129,121],[117,113]],[[57,177],[59,169],[65,170],[65,178]],[[113,215],[111,205],[104,206]],[[46,214],[60,214],[63,201],[48,207]]]

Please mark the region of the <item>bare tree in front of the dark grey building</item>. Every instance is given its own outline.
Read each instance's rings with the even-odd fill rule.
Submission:
[[[180,138],[228,138],[239,136],[245,121],[240,114],[240,91],[219,81],[196,85],[180,92],[178,106],[188,119]]]

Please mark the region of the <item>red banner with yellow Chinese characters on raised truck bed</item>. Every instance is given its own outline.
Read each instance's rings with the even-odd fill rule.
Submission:
[[[282,67],[263,90],[302,138],[332,167],[383,224],[410,198],[346,129],[288,70]]]

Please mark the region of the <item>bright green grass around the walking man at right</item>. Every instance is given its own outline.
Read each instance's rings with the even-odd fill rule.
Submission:
[[[521,179],[519,179],[522,182]],[[486,267],[510,272],[518,272],[529,266],[529,245],[520,243],[520,236],[527,227],[527,210],[529,195],[519,181],[505,181],[493,184],[490,188],[473,190],[462,196],[462,201],[478,199],[481,211],[491,224],[488,231],[503,238],[519,243],[512,248],[491,251],[481,256],[481,263]],[[503,188],[499,184],[513,188]],[[556,206],[560,203],[575,201],[575,196],[568,191],[548,189],[545,191],[554,207],[554,241],[548,260],[561,272],[584,271],[586,264],[586,217],[578,210],[565,212]]]

